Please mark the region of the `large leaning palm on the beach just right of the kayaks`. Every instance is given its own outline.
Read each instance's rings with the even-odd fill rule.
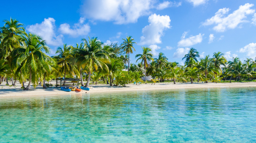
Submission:
[[[104,66],[108,71],[106,63],[109,62],[109,52],[102,49],[101,46],[103,43],[97,40],[97,37],[93,37],[92,39],[89,37],[88,41],[83,38],[82,41],[84,42],[84,51],[87,51],[87,53],[80,59],[80,62],[86,64],[89,69],[88,79],[85,85],[85,87],[88,87],[93,70],[102,69]]]

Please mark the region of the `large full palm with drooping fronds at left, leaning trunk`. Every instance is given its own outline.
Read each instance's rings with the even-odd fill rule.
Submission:
[[[22,36],[21,40],[24,42],[24,46],[14,49],[12,56],[15,56],[15,62],[13,63],[14,67],[22,66],[21,70],[24,71],[24,73],[29,72],[29,83],[24,89],[29,90],[31,83],[33,83],[34,87],[37,85],[38,66],[43,66],[44,69],[48,69],[47,59],[52,63],[54,63],[54,61],[44,53],[49,53],[50,48],[40,36],[29,33],[28,37]]]

